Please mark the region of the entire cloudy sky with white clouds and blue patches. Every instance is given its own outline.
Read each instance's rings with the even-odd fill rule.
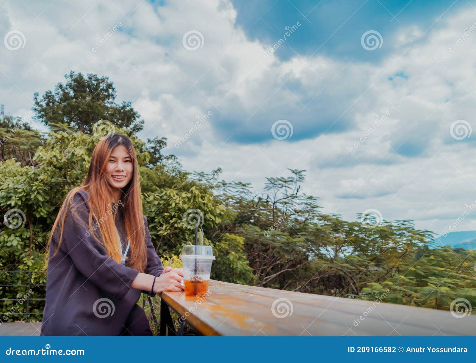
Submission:
[[[305,169],[327,213],[476,229],[475,22],[474,0],[0,0],[0,104],[109,76],[188,170],[258,192]]]

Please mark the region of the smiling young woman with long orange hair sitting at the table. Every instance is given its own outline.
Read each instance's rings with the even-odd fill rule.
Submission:
[[[181,291],[182,279],[152,245],[134,146],[103,137],[51,231],[41,335],[152,335],[141,292]]]

